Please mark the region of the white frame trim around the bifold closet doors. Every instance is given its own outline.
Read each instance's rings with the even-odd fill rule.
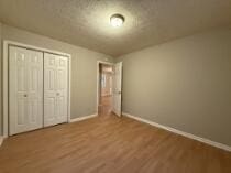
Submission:
[[[51,54],[57,54],[62,56],[68,57],[68,113],[67,113],[67,119],[68,122],[70,122],[70,84],[72,84],[72,55],[58,51],[53,51],[53,50],[47,50],[47,48],[42,48],[33,45],[28,45],[28,44],[22,44],[19,42],[14,41],[3,41],[3,137],[7,138],[9,136],[9,72],[8,72],[8,66],[9,66],[9,46],[18,46],[18,47],[23,47],[28,50],[33,50],[33,51],[40,51],[43,53],[51,53]]]

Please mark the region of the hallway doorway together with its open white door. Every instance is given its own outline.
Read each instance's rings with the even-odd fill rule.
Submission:
[[[97,112],[122,116],[122,62],[97,62]]]

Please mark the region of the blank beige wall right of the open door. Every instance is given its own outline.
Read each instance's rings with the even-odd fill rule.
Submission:
[[[124,112],[231,145],[231,30],[117,61],[123,62]]]

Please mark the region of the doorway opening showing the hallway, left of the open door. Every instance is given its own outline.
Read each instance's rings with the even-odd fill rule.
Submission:
[[[98,115],[109,116],[112,111],[113,65],[99,63]]]

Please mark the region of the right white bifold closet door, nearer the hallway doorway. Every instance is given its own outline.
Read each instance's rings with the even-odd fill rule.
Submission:
[[[44,54],[44,126],[67,122],[68,58]]]

